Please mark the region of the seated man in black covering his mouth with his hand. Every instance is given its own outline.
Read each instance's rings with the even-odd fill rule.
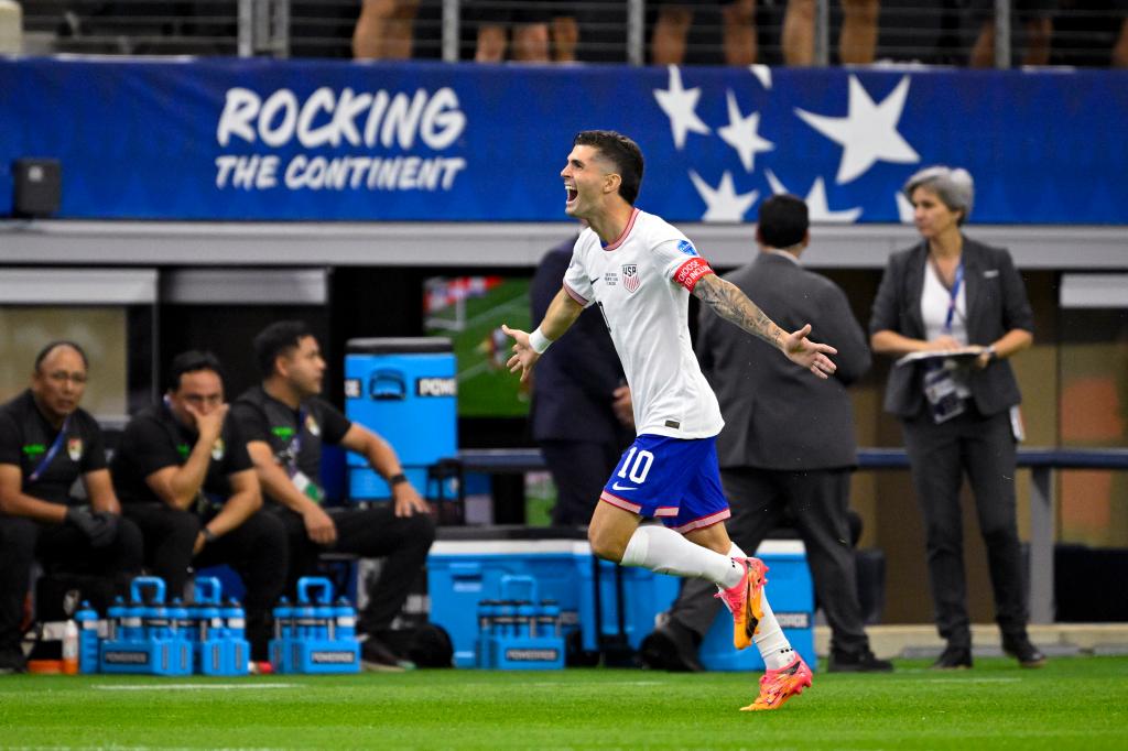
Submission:
[[[270,609],[285,584],[285,530],[262,511],[258,478],[228,408],[215,355],[177,355],[164,403],[125,426],[111,470],[126,518],[144,534],[146,563],[170,597],[184,591],[190,564],[239,572],[252,659],[264,661]]]

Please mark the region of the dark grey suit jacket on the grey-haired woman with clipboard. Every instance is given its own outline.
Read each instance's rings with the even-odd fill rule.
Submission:
[[[920,242],[889,257],[885,273],[873,301],[870,334],[891,330],[916,339],[925,338],[920,315],[928,246]],[[1034,330],[1034,315],[1026,288],[1011,254],[963,238],[963,283],[968,307],[968,343],[989,345],[1011,329]],[[924,372],[919,363],[893,368],[885,386],[885,410],[915,417],[924,408]],[[968,387],[976,408],[994,415],[1019,404],[1019,383],[1011,363],[996,360],[982,370],[972,369]]]

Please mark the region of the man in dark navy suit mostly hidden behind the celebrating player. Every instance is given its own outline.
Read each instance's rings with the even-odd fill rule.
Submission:
[[[540,259],[532,277],[532,320],[561,290],[575,238]],[[562,337],[537,363],[532,381],[532,438],[556,483],[553,523],[587,524],[603,483],[633,438],[631,390],[599,311],[580,315],[580,336]]]

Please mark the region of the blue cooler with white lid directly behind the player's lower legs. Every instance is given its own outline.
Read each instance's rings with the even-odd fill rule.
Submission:
[[[807,567],[807,548],[802,540],[765,540],[756,557],[768,567],[765,592],[776,620],[791,646],[814,670],[814,590]],[[725,608],[721,608],[705,635],[698,655],[706,670],[764,670],[764,660],[755,644],[740,652],[732,646],[732,616]]]

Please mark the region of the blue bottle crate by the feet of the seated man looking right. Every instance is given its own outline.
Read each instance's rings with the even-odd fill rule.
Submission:
[[[298,601],[274,609],[271,662],[276,673],[358,673],[356,611],[334,604],[333,584],[321,576],[298,580]]]

